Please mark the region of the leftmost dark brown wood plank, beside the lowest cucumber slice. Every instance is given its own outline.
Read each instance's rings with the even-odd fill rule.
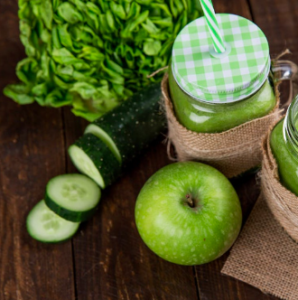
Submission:
[[[0,91],[24,56],[17,1],[0,1]],[[74,299],[71,243],[31,239],[25,220],[52,176],[65,172],[61,112],[18,106],[0,93],[0,299]]]

